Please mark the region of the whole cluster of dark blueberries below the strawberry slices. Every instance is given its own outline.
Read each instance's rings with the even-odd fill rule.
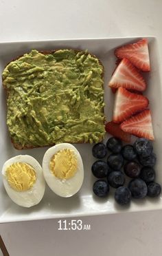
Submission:
[[[124,205],[130,203],[131,198],[145,198],[146,195],[155,198],[161,193],[161,186],[154,182],[153,167],[157,158],[150,140],[138,138],[133,145],[123,146],[122,140],[111,137],[106,145],[101,142],[94,145],[92,153],[100,159],[91,167],[93,175],[99,179],[93,184],[95,195],[105,197],[112,186],[116,189],[115,201]],[[106,161],[101,160],[107,153]],[[126,176],[131,178],[127,186],[124,185]]]

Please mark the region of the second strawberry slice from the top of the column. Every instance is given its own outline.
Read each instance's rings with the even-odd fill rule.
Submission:
[[[124,58],[119,63],[108,85],[111,88],[124,87],[140,92],[146,89],[146,83],[143,77],[127,58]]]

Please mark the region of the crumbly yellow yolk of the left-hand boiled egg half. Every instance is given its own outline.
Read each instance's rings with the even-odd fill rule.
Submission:
[[[30,164],[14,162],[5,171],[8,183],[15,191],[27,191],[36,182],[36,171]]]

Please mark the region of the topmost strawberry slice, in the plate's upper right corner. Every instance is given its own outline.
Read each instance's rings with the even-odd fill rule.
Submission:
[[[148,40],[142,39],[137,43],[124,45],[115,50],[117,58],[128,58],[139,70],[150,71],[150,58],[148,52]]]

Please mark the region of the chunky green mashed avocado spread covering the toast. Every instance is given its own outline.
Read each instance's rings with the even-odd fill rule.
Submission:
[[[103,67],[88,52],[32,50],[3,71],[7,124],[23,147],[104,138]]]

